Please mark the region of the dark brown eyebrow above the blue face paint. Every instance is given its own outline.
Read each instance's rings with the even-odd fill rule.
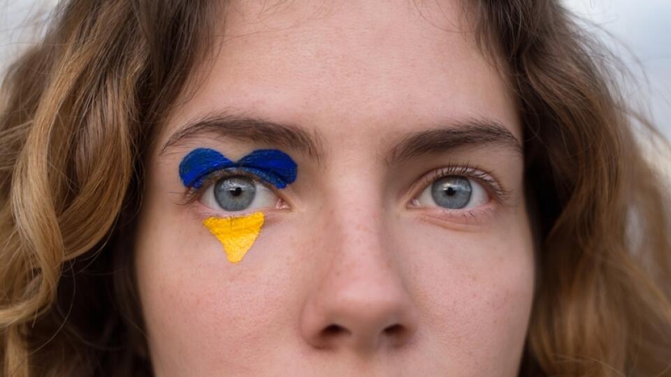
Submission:
[[[324,156],[322,142],[316,133],[310,135],[293,124],[278,123],[231,112],[216,112],[189,121],[168,138],[160,154],[164,154],[171,147],[180,145],[189,139],[199,137],[203,133],[217,133],[236,140],[294,149],[318,162],[322,161]]]

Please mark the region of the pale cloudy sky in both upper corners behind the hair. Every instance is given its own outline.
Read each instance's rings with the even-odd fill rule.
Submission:
[[[157,0],[160,1],[160,0]],[[186,0],[188,1],[188,0]],[[544,1],[544,0],[535,0]],[[671,0],[563,0],[628,64],[626,96],[671,138]],[[36,31],[56,0],[0,0],[0,71]],[[611,34],[607,38],[603,30]]]

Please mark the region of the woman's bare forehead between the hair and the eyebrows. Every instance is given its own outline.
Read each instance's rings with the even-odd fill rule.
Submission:
[[[521,139],[457,1],[233,1],[219,27],[215,59],[173,128],[219,109],[371,135],[488,117]]]

